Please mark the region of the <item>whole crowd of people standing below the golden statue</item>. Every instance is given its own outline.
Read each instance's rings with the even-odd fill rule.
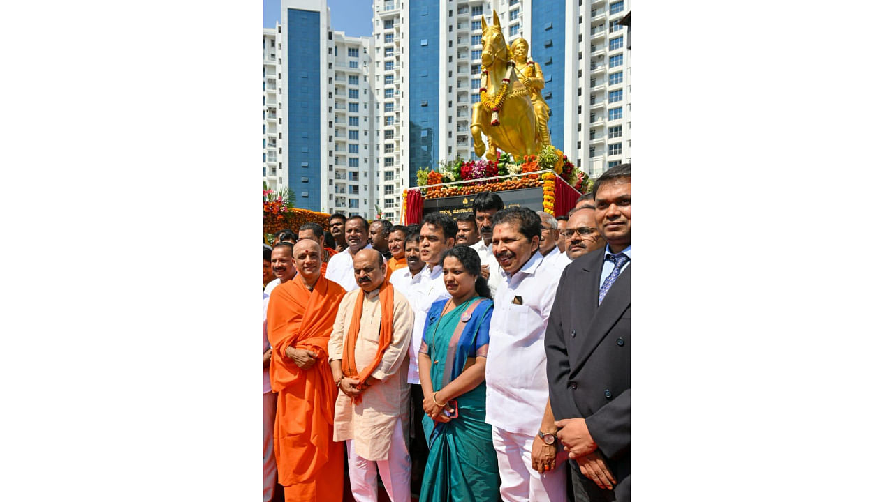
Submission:
[[[265,502],[629,500],[629,164],[568,216],[329,228],[264,248]]]

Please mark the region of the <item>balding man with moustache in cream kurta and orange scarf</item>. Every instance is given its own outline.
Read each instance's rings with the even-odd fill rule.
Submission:
[[[385,279],[381,253],[362,249],[353,263],[359,289],[342,298],[329,340],[330,364],[339,388],[333,439],[347,441],[355,500],[376,500],[377,468],[388,496],[409,502],[407,349],[413,311]]]

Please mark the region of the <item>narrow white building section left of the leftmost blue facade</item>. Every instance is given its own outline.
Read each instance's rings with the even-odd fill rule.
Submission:
[[[276,190],[289,184],[288,172],[283,170],[282,116],[283,88],[277,75],[282,72],[279,30],[264,29],[264,181],[267,188]]]

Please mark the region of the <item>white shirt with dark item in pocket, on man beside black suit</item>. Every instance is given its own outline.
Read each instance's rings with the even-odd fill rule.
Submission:
[[[544,334],[561,274],[538,252],[511,277],[499,273],[504,282],[493,299],[485,422],[534,436],[549,397]],[[513,304],[515,297],[521,305]]]

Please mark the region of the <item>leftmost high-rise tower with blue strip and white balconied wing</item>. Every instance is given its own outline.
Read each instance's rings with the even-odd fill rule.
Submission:
[[[283,165],[295,206],[375,215],[371,38],[330,27],[325,0],[283,0]]]

